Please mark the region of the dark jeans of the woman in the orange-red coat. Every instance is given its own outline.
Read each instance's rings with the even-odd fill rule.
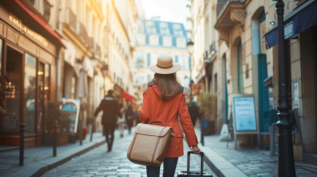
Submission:
[[[174,177],[178,157],[165,157],[163,161],[163,177]],[[147,177],[160,177],[160,167],[146,166]]]

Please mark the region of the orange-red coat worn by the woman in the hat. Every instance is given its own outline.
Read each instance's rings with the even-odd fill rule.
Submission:
[[[146,86],[147,85],[145,85],[145,88]],[[144,85],[142,87],[144,87]],[[143,92],[143,104],[140,113],[141,122],[162,121],[164,126],[173,127],[173,131],[176,134],[175,137],[172,137],[172,142],[166,157],[179,157],[184,155],[183,139],[177,114],[179,115],[181,126],[186,135],[188,146],[192,147],[198,144],[183,92],[176,94],[167,101],[163,101],[160,98],[162,93],[156,85],[148,86]]]

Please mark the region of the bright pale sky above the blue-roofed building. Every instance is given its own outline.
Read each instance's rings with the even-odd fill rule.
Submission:
[[[190,28],[186,18],[190,16],[186,7],[188,0],[141,0],[145,18],[161,16],[162,21],[182,23],[185,29]]]

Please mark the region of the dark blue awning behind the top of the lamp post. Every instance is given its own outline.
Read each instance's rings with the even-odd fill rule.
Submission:
[[[284,39],[317,25],[317,0],[308,0],[284,18]],[[278,44],[277,25],[264,34],[266,48]]]

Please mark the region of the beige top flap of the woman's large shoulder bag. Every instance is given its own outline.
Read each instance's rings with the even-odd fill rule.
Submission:
[[[159,125],[139,123],[137,125],[137,128],[136,128],[136,133],[144,134],[144,135],[151,135],[151,136],[165,136],[166,133],[170,129],[173,129],[173,128],[167,127],[167,126],[159,126]]]

